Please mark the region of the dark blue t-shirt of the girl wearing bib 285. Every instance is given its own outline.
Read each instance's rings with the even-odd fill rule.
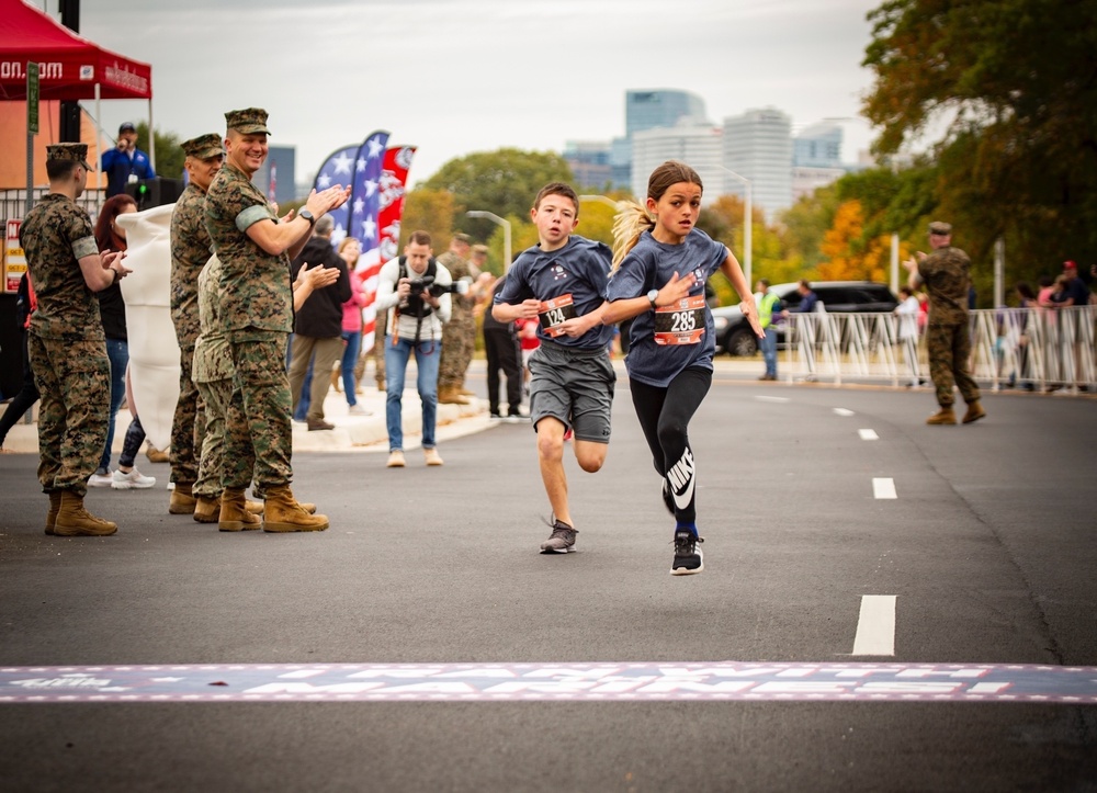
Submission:
[[[691,229],[680,245],[665,245],[644,231],[610,279],[608,299],[642,297],[666,286],[677,272],[697,279],[689,296],[674,306],[644,311],[632,320],[629,376],[657,388],[670,385],[690,366],[712,371],[716,351],[712,313],[704,302],[704,282],[727,259],[727,248],[700,229]]]

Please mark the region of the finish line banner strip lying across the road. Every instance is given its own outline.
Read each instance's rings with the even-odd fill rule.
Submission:
[[[1095,704],[1097,667],[724,661],[0,667],[0,704],[683,700]]]

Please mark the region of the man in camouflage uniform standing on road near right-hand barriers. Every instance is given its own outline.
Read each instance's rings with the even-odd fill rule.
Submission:
[[[929,376],[937,387],[940,410],[930,416],[927,424],[954,424],[952,403],[953,384],[968,405],[963,422],[986,416],[979,399],[979,386],[968,372],[971,356],[971,333],[968,328],[968,290],[971,286],[971,260],[959,248],[952,247],[952,226],[947,223],[929,224],[929,247],[926,256],[918,251],[906,262],[911,271],[908,285],[917,290],[925,284],[929,294],[929,320],[926,326],[926,347],[929,351]]]

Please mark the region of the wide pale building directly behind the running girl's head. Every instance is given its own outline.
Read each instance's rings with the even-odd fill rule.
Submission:
[[[725,191],[723,163],[724,132],[703,118],[683,117],[672,127],[644,129],[632,136],[632,193],[643,201],[647,195],[647,179],[656,167],[667,160],[690,165],[705,190],[702,204],[709,205]]]

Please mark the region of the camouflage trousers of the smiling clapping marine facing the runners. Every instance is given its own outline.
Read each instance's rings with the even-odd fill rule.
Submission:
[[[228,331],[236,375],[225,415],[225,487],[244,489],[252,474],[264,490],[290,484],[293,430],[286,338],[275,330]]]

